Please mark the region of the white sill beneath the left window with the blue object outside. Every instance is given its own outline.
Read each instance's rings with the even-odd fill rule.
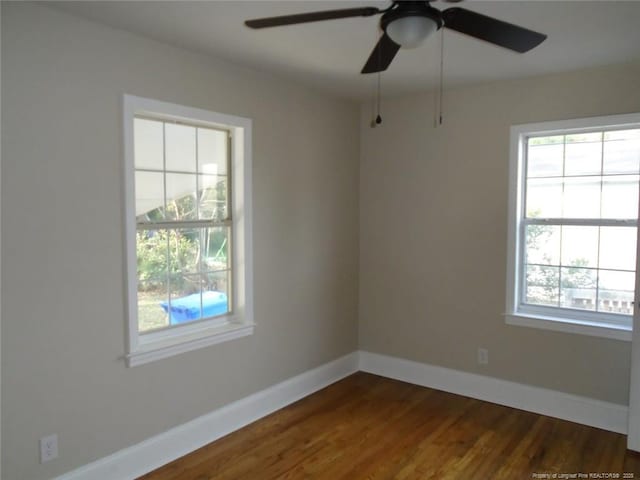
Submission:
[[[216,343],[253,335],[254,327],[253,323],[225,323],[206,330],[147,341],[126,356],[127,366],[136,367]]]

